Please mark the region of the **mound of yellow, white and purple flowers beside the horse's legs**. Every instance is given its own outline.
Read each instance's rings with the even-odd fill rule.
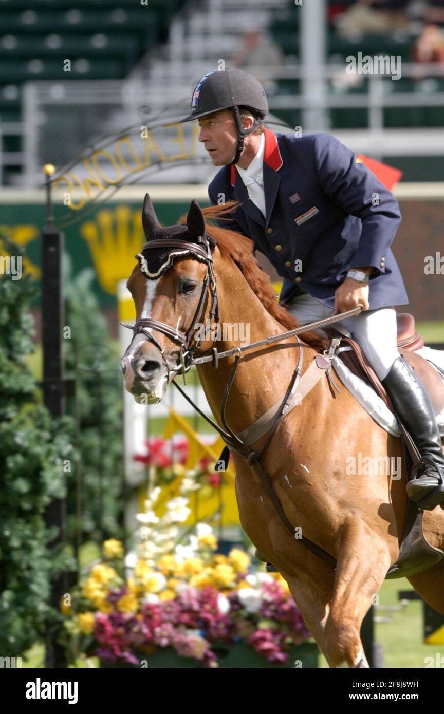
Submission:
[[[137,553],[123,558],[118,540],[104,543],[104,560],[65,608],[71,662],[95,655],[113,666],[255,667],[257,661],[295,666],[301,659],[294,648],[310,633],[281,575],[255,571],[239,548],[215,553],[216,536],[206,523],[179,533],[192,490],[187,478],[161,518],[153,513],[161,489],[153,490],[138,516]],[[256,664],[241,664],[246,653]]]

